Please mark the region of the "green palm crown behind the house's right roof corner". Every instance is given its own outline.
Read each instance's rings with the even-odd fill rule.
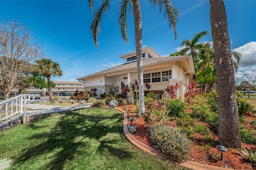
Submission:
[[[206,36],[206,35],[210,35],[210,32],[202,31],[200,33],[196,33],[192,40],[184,39],[181,43],[181,46],[185,46],[183,51],[186,51],[186,52],[190,51],[193,59],[195,60],[196,51],[204,46],[204,43],[199,43],[199,41],[203,36]]]

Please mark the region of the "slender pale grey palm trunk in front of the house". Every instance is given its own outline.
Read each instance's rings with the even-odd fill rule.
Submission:
[[[132,0],[134,12],[135,43],[137,56],[138,84],[139,84],[139,117],[145,112],[143,66],[142,66],[142,19],[139,0]]]

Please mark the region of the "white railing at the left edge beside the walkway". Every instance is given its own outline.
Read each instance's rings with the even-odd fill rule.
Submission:
[[[21,115],[26,115],[27,101],[30,101],[30,95],[20,94],[0,102],[0,125],[2,126]]]

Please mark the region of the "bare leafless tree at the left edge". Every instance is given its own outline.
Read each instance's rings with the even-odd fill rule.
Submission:
[[[11,89],[16,88],[18,78],[35,59],[43,55],[40,45],[33,42],[25,24],[17,20],[0,25],[0,90],[4,100],[9,98]]]

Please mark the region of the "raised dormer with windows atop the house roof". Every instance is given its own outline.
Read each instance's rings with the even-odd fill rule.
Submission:
[[[124,59],[124,63],[132,63],[137,61],[136,51],[120,55],[121,59]],[[147,58],[159,58],[161,57],[156,51],[154,51],[150,46],[142,49],[142,60]]]

